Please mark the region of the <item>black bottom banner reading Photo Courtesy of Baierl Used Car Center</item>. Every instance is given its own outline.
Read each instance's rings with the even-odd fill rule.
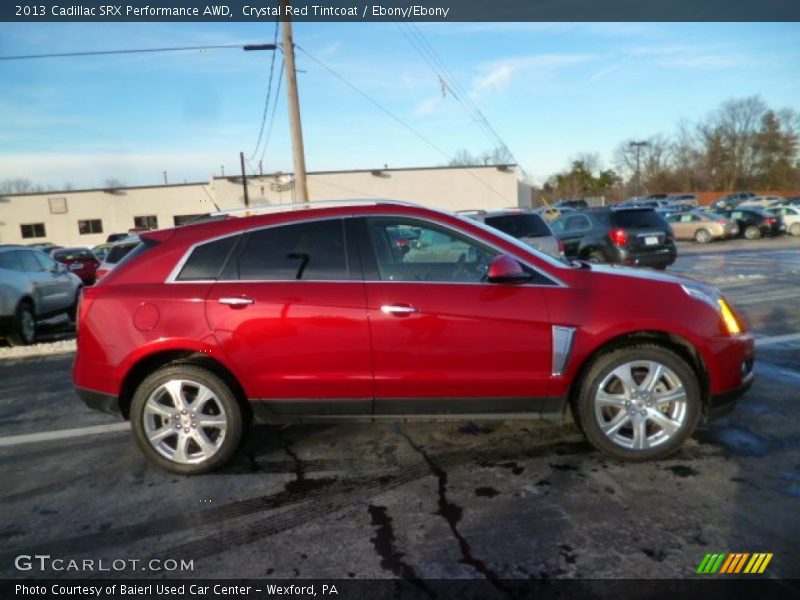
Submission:
[[[800,593],[797,581],[728,576],[694,580],[220,580],[220,579],[64,579],[0,581],[3,600],[388,600],[450,598],[581,599],[614,598],[792,598]]]

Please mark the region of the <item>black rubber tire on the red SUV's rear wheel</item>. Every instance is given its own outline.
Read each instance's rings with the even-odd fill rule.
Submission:
[[[174,453],[177,455],[177,446],[179,444],[178,439],[180,437],[188,439],[195,434],[201,433],[201,430],[204,431],[203,435],[205,436],[205,432],[208,432],[209,430],[202,427],[202,425],[197,428],[194,424],[189,425],[189,423],[184,423],[178,426],[178,421],[173,421],[171,418],[167,419],[166,417],[154,416],[154,413],[149,409],[149,412],[146,411],[146,406],[149,406],[148,401],[152,402],[154,398],[158,398],[157,394],[165,393],[161,391],[163,389],[162,386],[169,381],[176,380],[184,382],[186,384],[186,388],[190,390],[192,389],[192,386],[204,386],[210,390],[210,392],[213,394],[214,403],[210,408],[215,410],[213,412],[201,415],[201,417],[221,417],[226,421],[226,428],[224,430],[224,434],[221,434],[221,439],[211,439],[210,435],[204,438],[217,445],[216,450],[213,452],[213,454],[211,454],[210,457],[205,459],[191,459],[191,457],[189,457],[187,454],[187,460],[196,460],[196,462],[182,462],[176,459],[171,459],[163,454],[163,452],[169,453],[172,446],[170,446],[168,440],[171,440],[173,437],[175,438]],[[184,388],[182,387],[181,390],[183,389]],[[156,396],[153,396],[154,394],[156,394]],[[183,391],[181,391],[181,394],[183,394]],[[151,396],[153,397],[151,398]],[[165,405],[160,404],[160,406],[163,407]],[[169,407],[168,410],[171,411],[172,408]],[[177,412],[178,411],[176,409],[176,414]],[[193,412],[191,413],[192,421],[194,421],[194,414],[195,413]],[[184,415],[184,417],[188,418],[187,415]],[[163,429],[158,428],[158,431],[166,431],[167,428],[171,430],[173,423],[175,424],[176,431],[170,431],[170,433],[164,436],[164,438],[159,442],[159,449],[156,449],[150,443],[147,435],[147,427],[150,423],[159,418],[163,419],[163,423],[161,423]],[[181,416],[178,415],[177,418],[181,418]],[[210,471],[219,469],[230,461],[238,449],[242,439],[244,418],[242,415],[242,408],[237,402],[236,396],[222,379],[217,377],[211,371],[202,367],[176,364],[159,369],[158,371],[146,377],[144,381],[139,384],[139,387],[136,389],[136,392],[133,395],[133,400],[131,403],[131,425],[136,437],[136,442],[148,459],[173,473],[179,473],[181,475],[198,475],[200,473],[208,473]],[[185,430],[182,429],[184,425],[187,427]],[[190,429],[190,427],[194,429]],[[185,431],[187,435],[183,435],[181,433],[182,431]],[[192,439],[194,438],[192,437]],[[193,447],[196,447],[197,450],[202,451],[200,445],[196,441],[187,441],[186,444],[187,445],[184,446],[186,452]]]

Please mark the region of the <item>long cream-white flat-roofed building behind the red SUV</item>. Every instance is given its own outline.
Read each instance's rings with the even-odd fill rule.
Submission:
[[[515,165],[318,171],[308,173],[310,200],[406,200],[446,210],[531,205]],[[248,176],[250,205],[294,200],[291,175]],[[110,233],[168,228],[215,210],[244,206],[241,176],[208,183],[69,190],[0,196],[0,243],[95,246]]]

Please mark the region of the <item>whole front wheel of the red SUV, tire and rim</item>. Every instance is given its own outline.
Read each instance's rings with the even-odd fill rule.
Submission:
[[[700,384],[680,356],[653,345],[601,355],[577,397],[578,422],[599,450],[628,461],[664,458],[700,419]]]

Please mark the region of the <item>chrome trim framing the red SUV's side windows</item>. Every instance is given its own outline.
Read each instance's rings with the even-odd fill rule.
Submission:
[[[189,260],[189,257],[192,255],[192,252],[194,252],[195,248],[197,248],[198,246],[202,246],[204,244],[211,244],[213,242],[217,242],[217,241],[223,240],[225,238],[229,238],[229,237],[233,237],[233,236],[239,236],[239,235],[245,235],[245,234],[248,234],[248,233],[253,233],[255,231],[262,231],[264,229],[273,229],[275,227],[297,225],[297,224],[301,224],[301,223],[309,223],[309,222],[316,222],[316,221],[333,221],[333,220],[339,220],[339,219],[344,220],[344,219],[358,219],[358,218],[368,218],[368,217],[375,217],[375,218],[397,217],[397,218],[406,218],[406,219],[417,219],[417,220],[420,220],[420,221],[431,221],[432,223],[435,223],[436,225],[439,225],[440,227],[444,227],[445,229],[451,229],[451,230],[457,231],[462,236],[465,236],[467,238],[474,237],[473,235],[471,235],[471,234],[469,234],[469,233],[467,233],[465,231],[462,231],[462,230],[460,230],[460,229],[458,229],[456,227],[453,227],[449,223],[442,223],[442,222],[440,222],[438,220],[430,219],[428,217],[420,217],[420,216],[417,216],[417,215],[408,215],[408,214],[404,214],[404,213],[389,212],[389,213],[378,213],[378,214],[335,215],[335,216],[330,216],[330,217],[312,217],[312,216],[309,216],[307,218],[297,219],[297,220],[292,220],[292,221],[287,221],[287,222],[282,222],[282,223],[272,223],[272,224],[269,224],[269,225],[262,225],[260,227],[252,227],[250,229],[240,229],[238,231],[225,233],[225,234],[222,234],[222,235],[218,235],[218,236],[215,236],[215,237],[204,239],[204,240],[202,240],[200,242],[196,242],[196,243],[192,244],[191,246],[189,246],[189,248],[186,249],[186,251],[183,253],[183,256],[181,256],[181,259],[176,263],[175,267],[172,269],[172,271],[170,271],[169,275],[167,275],[167,278],[164,280],[164,283],[177,283],[177,284],[185,284],[185,283],[288,283],[288,282],[301,283],[301,282],[305,281],[305,282],[314,282],[314,283],[322,283],[322,282],[325,282],[325,283],[331,283],[331,282],[335,282],[335,283],[427,283],[427,284],[438,284],[438,285],[441,285],[441,284],[444,284],[444,285],[487,285],[488,284],[488,282],[480,282],[480,281],[478,281],[478,282],[458,282],[458,281],[383,281],[383,280],[368,280],[368,279],[356,279],[356,280],[353,280],[353,279],[346,279],[346,280],[345,279],[318,279],[318,280],[312,280],[312,279],[208,279],[208,280],[206,280],[206,279],[203,279],[203,280],[198,280],[198,279],[195,279],[195,280],[186,280],[186,281],[180,281],[180,280],[177,279],[178,275],[183,270],[183,267],[186,265],[186,262]],[[486,227],[489,227],[489,226],[486,225]],[[494,234],[495,232],[489,231],[489,233]],[[509,254],[514,259],[516,259],[520,263],[522,263],[525,267],[527,267],[530,270],[534,271],[535,273],[537,273],[538,275],[540,275],[544,279],[553,282],[552,285],[551,284],[546,284],[546,283],[545,284],[522,283],[522,284],[519,284],[519,285],[521,285],[523,287],[547,287],[547,288],[550,288],[550,287],[568,288],[569,287],[566,283],[564,283],[561,279],[559,279],[555,275],[552,275],[552,274],[550,274],[550,273],[548,273],[546,271],[543,271],[539,267],[533,266],[532,264],[530,264],[530,262],[528,262],[524,258],[520,258],[517,253],[515,253],[515,252],[509,253],[508,251],[503,250],[501,248],[498,248],[497,246],[495,246],[491,242],[488,242],[488,241],[483,240],[483,239],[481,239],[479,241],[480,241],[480,243],[484,244],[485,246],[488,246],[489,248],[491,248],[492,250],[498,252],[499,254]],[[528,250],[528,248],[526,248],[526,250]],[[533,252],[535,249],[534,248],[529,248],[529,250],[531,252]],[[556,259],[552,259],[552,260],[554,262],[556,261]],[[554,268],[564,268],[564,269],[569,268],[567,265],[557,265],[557,264],[554,264],[553,267]],[[496,284],[489,284],[489,285],[496,285]]]

